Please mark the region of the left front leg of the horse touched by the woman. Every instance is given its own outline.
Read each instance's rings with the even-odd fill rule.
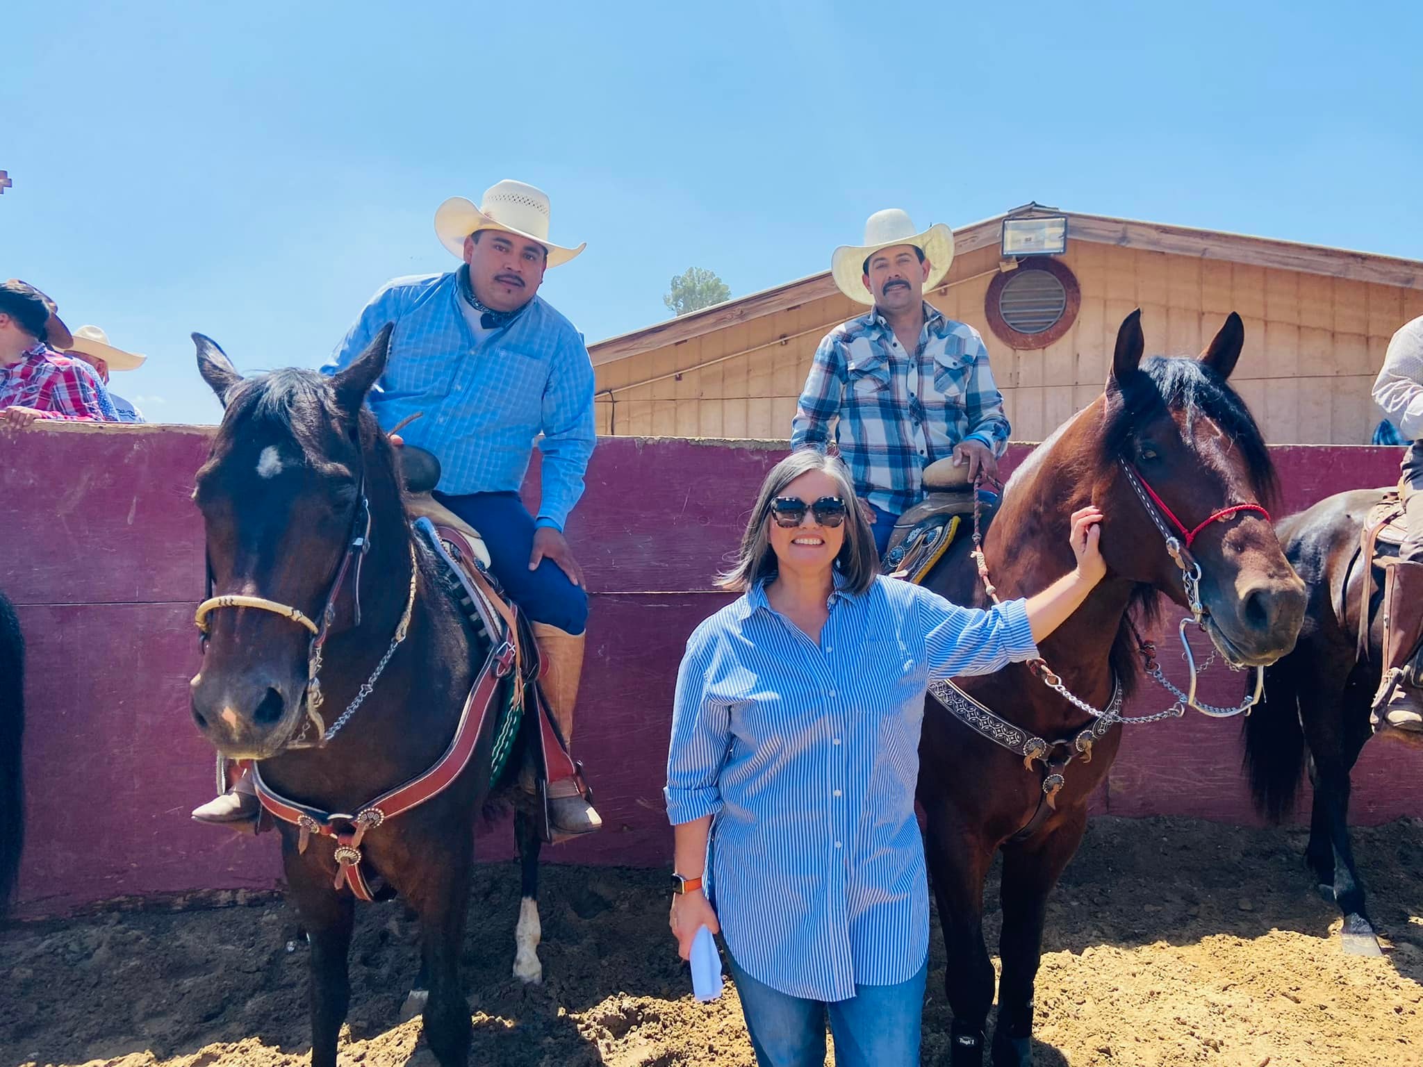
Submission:
[[[949,829],[948,818],[928,817],[925,834],[933,896],[948,963],[943,992],[953,1010],[951,1067],[982,1067],[983,1027],[993,1004],[993,962],[983,943],[983,878],[992,849],[968,832]]]

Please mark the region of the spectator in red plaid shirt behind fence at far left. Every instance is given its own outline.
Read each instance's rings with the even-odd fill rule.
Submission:
[[[0,283],[0,424],[118,421],[92,368],[57,351],[73,343],[50,297],[14,279]]]

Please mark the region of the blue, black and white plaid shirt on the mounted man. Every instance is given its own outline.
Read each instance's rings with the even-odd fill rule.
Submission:
[[[995,455],[1007,447],[983,339],[929,303],[924,316],[914,354],[878,309],[825,334],[791,424],[793,450],[838,442],[855,488],[891,515],[924,498],[924,468],[961,441],[982,441]]]

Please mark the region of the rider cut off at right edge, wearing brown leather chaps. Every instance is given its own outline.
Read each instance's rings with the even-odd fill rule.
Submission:
[[[1373,728],[1423,731],[1423,316],[1389,341],[1373,401],[1412,441],[1403,457],[1399,491],[1407,536],[1399,559],[1385,568],[1383,681],[1373,700]]]

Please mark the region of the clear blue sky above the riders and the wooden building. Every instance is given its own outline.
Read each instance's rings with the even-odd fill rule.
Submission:
[[[687,266],[744,294],[864,218],[1062,208],[1423,259],[1423,4],[4,0],[0,276],[216,421],[192,330],[316,366],[445,196],[542,186],[589,341]]]

